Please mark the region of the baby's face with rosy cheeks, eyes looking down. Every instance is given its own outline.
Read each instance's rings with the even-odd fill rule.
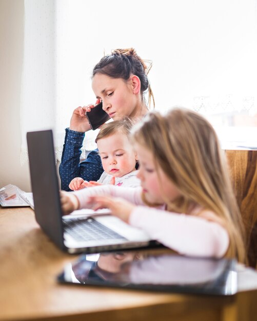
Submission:
[[[107,174],[122,177],[135,170],[135,152],[125,134],[118,132],[99,139],[97,147]]]

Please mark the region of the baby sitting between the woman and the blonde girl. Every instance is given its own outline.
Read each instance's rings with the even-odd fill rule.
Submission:
[[[73,178],[69,184],[71,190],[102,184],[123,187],[140,186],[140,179],[136,177],[137,156],[128,139],[132,125],[129,118],[103,125],[95,142],[104,172],[97,182],[87,182],[81,177]]]

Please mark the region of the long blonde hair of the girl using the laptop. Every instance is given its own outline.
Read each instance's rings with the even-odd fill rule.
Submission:
[[[165,116],[150,112],[133,127],[132,139],[153,154],[156,168],[162,169],[181,192],[175,202],[166,200],[168,210],[187,213],[190,207],[200,205],[214,212],[229,233],[227,256],[245,262],[242,217],[225,153],[210,123],[200,114],[182,108]]]

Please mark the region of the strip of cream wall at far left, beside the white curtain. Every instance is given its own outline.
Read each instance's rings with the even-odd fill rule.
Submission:
[[[28,163],[21,166],[21,78],[24,1],[0,0],[0,187],[30,191]]]

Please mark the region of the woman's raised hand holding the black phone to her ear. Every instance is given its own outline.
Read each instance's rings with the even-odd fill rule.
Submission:
[[[99,104],[100,100],[96,99],[96,104]],[[78,132],[86,132],[91,129],[87,117],[85,116],[86,112],[90,112],[90,110],[94,108],[93,104],[89,104],[83,107],[77,107],[71,116],[70,119],[70,130],[78,131]]]

